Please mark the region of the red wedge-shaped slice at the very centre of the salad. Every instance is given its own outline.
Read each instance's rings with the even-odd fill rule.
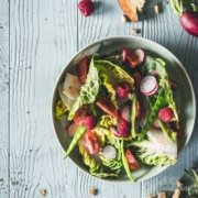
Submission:
[[[100,98],[97,100],[96,105],[111,117],[118,118],[118,110],[113,107],[113,105],[106,98]]]

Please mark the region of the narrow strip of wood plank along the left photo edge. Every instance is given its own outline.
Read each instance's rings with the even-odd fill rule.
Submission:
[[[9,197],[9,2],[0,1],[0,197]]]

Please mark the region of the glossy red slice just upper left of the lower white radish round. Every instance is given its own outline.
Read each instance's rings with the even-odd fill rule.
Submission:
[[[100,151],[100,143],[94,131],[85,133],[85,146],[91,155],[98,154]]]

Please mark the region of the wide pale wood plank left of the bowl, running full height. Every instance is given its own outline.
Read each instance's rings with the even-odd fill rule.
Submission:
[[[67,0],[10,2],[10,197],[37,197],[44,188],[48,197],[69,198],[78,189],[77,168],[63,160],[51,121],[55,80],[77,50],[76,4]]]

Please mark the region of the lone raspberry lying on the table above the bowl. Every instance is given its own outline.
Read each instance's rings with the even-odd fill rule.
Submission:
[[[81,12],[82,15],[88,16],[94,11],[94,3],[91,0],[81,0],[78,3],[78,9]]]

